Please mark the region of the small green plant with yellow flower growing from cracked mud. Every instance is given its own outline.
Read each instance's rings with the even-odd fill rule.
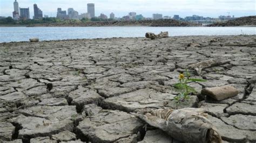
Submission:
[[[179,74],[179,82],[174,84],[174,87],[177,88],[180,92],[174,97],[174,100],[178,103],[184,102],[190,98],[191,94],[196,94],[197,91],[193,87],[190,87],[188,83],[191,82],[205,82],[204,79],[199,78],[190,78],[190,73],[186,70],[184,73]]]

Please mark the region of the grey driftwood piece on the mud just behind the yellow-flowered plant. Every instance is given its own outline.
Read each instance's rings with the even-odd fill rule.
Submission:
[[[197,74],[200,75],[202,69],[215,67],[215,66],[219,66],[219,65],[224,65],[226,63],[230,63],[230,61],[206,60],[206,61],[201,61],[198,63],[193,63],[193,64],[189,65],[188,67],[196,70]]]

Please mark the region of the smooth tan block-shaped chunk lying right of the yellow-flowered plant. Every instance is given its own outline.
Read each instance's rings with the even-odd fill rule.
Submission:
[[[237,96],[239,91],[230,85],[222,87],[205,88],[201,90],[201,94],[210,96],[211,98],[221,101],[226,98]]]

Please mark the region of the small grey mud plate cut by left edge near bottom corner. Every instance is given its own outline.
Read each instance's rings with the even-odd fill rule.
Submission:
[[[15,126],[8,122],[0,122],[0,140],[12,140],[12,134],[15,132]]]

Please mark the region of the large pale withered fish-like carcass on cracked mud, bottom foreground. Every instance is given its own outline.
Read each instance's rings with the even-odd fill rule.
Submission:
[[[184,142],[222,142],[221,136],[200,108],[143,110],[133,115]]]

